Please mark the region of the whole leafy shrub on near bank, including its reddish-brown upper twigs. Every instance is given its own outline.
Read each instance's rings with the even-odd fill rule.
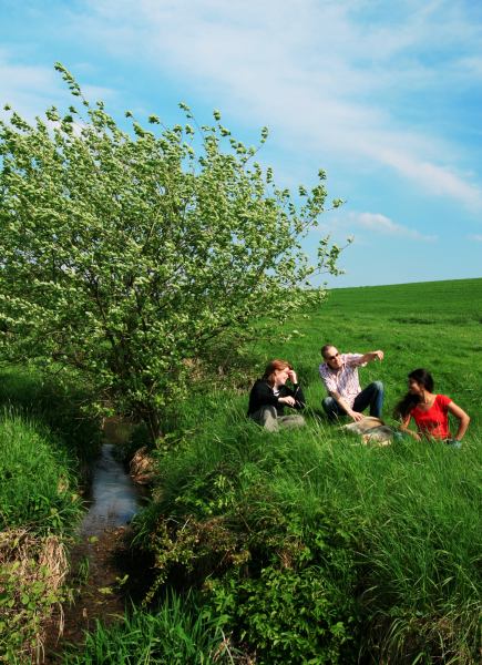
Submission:
[[[273,524],[271,534],[244,534],[232,570],[207,577],[206,603],[259,664],[348,663],[357,632],[352,543],[321,513],[297,533],[289,516],[297,523],[287,515],[283,530],[278,519],[277,535]]]

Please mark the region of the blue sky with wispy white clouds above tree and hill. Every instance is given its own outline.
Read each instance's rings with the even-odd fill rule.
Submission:
[[[330,198],[329,286],[482,275],[482,2],[0,0],[0,102],[32,116],[71,100],[61,61],[114,115],[199,124],[219,109],[279,185]]]

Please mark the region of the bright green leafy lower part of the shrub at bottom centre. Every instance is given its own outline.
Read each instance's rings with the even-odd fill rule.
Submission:
[[[260,665],[349,662],[352,602],[324,569],[270,565],[257,577],[233,576],[209,587],[224,630],[255,648]]]

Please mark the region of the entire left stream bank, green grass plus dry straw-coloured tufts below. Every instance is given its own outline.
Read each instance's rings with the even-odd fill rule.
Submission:
[[[85,391],[28,369],[0,375],[0,662],[40,662],[65,601],[65,536],[82,514],[82,472],[98,450]],[[53,630],[53,627],[52,627]]]

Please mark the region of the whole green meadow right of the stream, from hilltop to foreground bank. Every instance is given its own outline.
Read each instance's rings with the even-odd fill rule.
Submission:
[[[62,662],[475,665],[482,279],[334,289],[270,329],[235,375],[193,385],[166,420],[152,501],[134,521],[133,546],[152,561],[147,597]],[[360,379],[383,381],[393,426],[407,374],[429,369],[435,392],[471,416],[462,448],[363,446],[328,424],[326,342],[384,351]],[[249,387],[275,357],[306,389],[302,430],[270,434],[246,419]]]

